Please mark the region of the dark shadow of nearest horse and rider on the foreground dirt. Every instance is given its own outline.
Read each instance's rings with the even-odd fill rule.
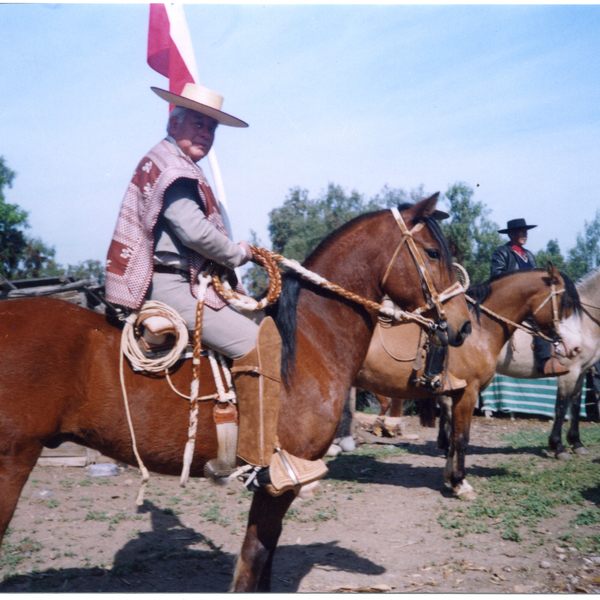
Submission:
[[[114,558],[112,569],[70,568],[9,576],[0,593],[224,593],[229,590],[236,556],[185,527],[171,511],[145,502],[152,530],[141,532]],[[202,544],[206,550],[191,549]],[[241,545],[241,538],[240,538]],[[320,568],[380,575],[385,569],[337,542],[280,546],[274,560],[273,592],[296,592],[302,579]],[[333,590],[332,590],[333,591]]]

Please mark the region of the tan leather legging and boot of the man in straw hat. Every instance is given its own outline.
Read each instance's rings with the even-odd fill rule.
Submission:
[[[239,411],[237,455],[264,468],[256,479],[268,483],[269,493],[278,496],[292,488],[299,492],[301,486],[323,477],[327,467],[322,460],[292,456],[277,444],[281,338],[271,317],[261,323],[256,347],[233,361],[231,373]]]

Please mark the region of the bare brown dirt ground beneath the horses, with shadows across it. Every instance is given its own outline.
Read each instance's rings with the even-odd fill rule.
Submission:
[[[294,502],[273,592],[600,593],[600,557],[558,544],[572,527],[569,511],[543,521],[547,542],[535,548],[498,530],[457,538],[444,529],[440,513],[464,501],[443,485],[436,430],[405,419],[406,433],[419,436],[404,442],[406,452],[356,455],[345,466],[331,458],[315,497]],[[539,426],[476,417],[469,473],[486,477],[511,454],[502,434]],[[575,460],[599,456],[592,448]],[[92,478],[85,468],[36,467],[5,542],[0,591],[227,591],[250,506],[241,484],[193,480],[182,489],[177,478],[152,475],[138,509],[137,470],[119,466],[119,473]]]

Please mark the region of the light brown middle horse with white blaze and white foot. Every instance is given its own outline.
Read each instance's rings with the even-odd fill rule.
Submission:
[[[467,387],[446,394],[452,401],[452,427],[448,447],[442,448],[447,452],[444,477],[454,493],[462,498],[475,497],[465,478],[465,456],[479,392],[494,377],[498,355],[516,329],[510,322],[521,324],[533,317],[541,331],[556,335],[552,303],[548,301],[552,285],[560,293],[561,299],[557,303],[560,319],[579,312],[575,286],[551,265],[547,271],[530,269],[503,274],[467,290],[467,295],[476,302],[469,306],[473,332],[460,348],[451,348],[448,353],[448,370],[466,380]],[[481,310],[481,306],[510,322],[490,316]],[[414,360],[410,359],[417,353],[419,335],[416,324],[388,329],[378,325],[367,360],[355,379],[356,385],[394,398],[392,406],[398,399],[430,398],[431,392],[411,383],[418,375],[413,369]],[[569,353],[568,340],[563,339],[562,343],[565,353]],[[575,343],[579,343],[578,337]],[[401,360],[403,358],[409,360]]]

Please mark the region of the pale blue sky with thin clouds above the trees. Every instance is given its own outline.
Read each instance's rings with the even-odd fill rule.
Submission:
[[[600,208],[600,6],[186,4],[201,83],[248,129],[215,152],[236,239],[299,186],[475,189],[528,247]],[[1,4],[9,202],[57,260],[104,261],[133,169],[165,131],[147,4]],[[203,166],[203,163],[200,163]],[[205,171],[209,171],[208,164]]]

